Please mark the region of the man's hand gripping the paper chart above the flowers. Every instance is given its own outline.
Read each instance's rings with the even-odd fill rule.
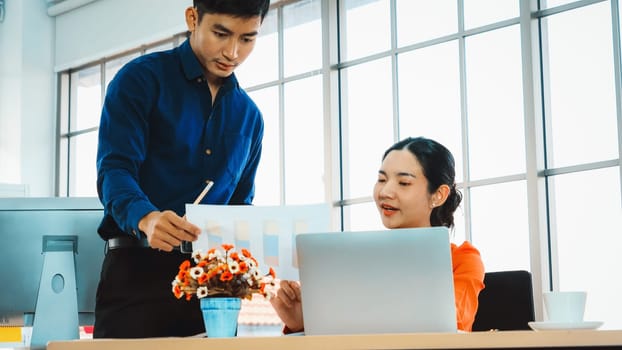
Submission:
[[[147,235],[151,248],[167,252],[181,241],[196,241],[201,233],[200,228],[171,210],[152,211],[140,219],[138,228]]]

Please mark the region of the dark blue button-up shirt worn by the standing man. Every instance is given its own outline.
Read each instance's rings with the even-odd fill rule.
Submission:
[[[139,232],[138,221],[154,210],[182,216],[206,180],[214,186],[202,203],[250,204],[263,127],[233,74],[212,104],[188,41],[129,62],[108,86],[101,115],[100,235]]]

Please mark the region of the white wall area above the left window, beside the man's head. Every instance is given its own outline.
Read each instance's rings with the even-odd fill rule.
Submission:
[[[192,0],[99,0],[56,17],[56,71],[186,29]]]

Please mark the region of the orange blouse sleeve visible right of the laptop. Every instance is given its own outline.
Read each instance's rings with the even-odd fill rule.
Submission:
[[[470,332],[477,313],[477,297],[484,289],[484,263],[469,242],[451,244],[458,329]]]

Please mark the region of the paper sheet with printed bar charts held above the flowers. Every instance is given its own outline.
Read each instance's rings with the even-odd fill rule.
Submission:
[[[250,206],[186,204],[186,218],[201,228],[194,250],[206,252],[223,243],[246,248],[262,272],[298,280],[296,235],[330,231],[328,204]]]

